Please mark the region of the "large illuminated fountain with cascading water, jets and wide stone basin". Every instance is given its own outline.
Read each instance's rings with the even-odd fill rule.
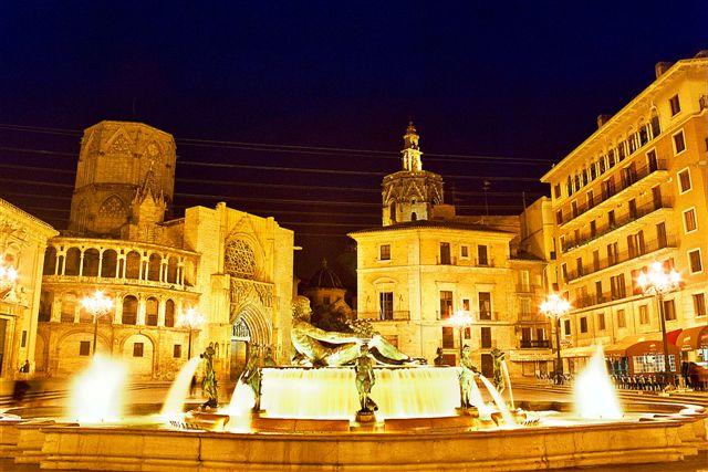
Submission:
[[[32,409],[17,409],[10,413],[30,419],[0,416],[0,450],[10,451],[17,462],[33,462],[43,470],[362,472],[669,462],[707,449],[702,408],[635,402],[625,406],[624,413],[615,409],[601,349],[579,376],[576,412],[570,405],[523,398],[517,398],[517,405],[524,411],[508,411],[482,376],[471,384],[473,407],[464,408],[460,368],[400,365],[374,368],[371,396],[378,410],[375,421],[363,423],[357,421],[362,403],[354,368],[266,367],[253,360],[247,371],[258,375],[244,375],[227,407],[211,410],[205,405],[206,412],[185,415],[181,406],[188,380],[199,363],[190,359],[163,412],[183,418],[196,415],[197,419],[204,415],[200,424],[216,424],[214,431],[194,429],[184,420],[166,423],[165,418],[152,426],[134,419],[106,424],[105,420],[115,418],[108,413],[80,420],[80,426],[52,424],[31,419],[40,416]],[[350,358],[352,353],[350,346],[324,352]],[[95,363],[103,365],[98,358]],[[103,377],[107,369],[91,371],[105,386],[116,385]],[[508,379],[504,381],[511,390]],[[90,391],[91,387],[77,390],[81,395]],[[589,397],[613,408],[600,410],[587,402]],[[85,406],[88,400],[83,398]],[[118,397],[113,398],[118,403]],[[230,416],[231,421],[210,422],[218,416]]]

